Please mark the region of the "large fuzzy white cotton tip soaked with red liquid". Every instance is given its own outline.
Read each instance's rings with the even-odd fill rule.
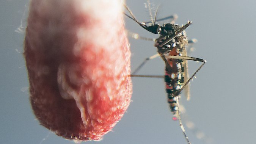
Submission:
[[[130,50],[120,0],[31,0],[24,55],[41,125],[100,140],[130,103]]]

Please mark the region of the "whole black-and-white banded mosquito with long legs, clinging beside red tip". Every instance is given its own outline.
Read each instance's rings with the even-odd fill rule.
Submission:
[[[184,88],[188,88],[188,83],[195,77],[196,73],[203,67],[206,63],[206,60],[200,58],[194,58],[187,56],[187,51],[185,46],[188,45],[187,34],[185,29],[192,24],[191,21],[188,21],[184,26],[179,26],[173,23],[165,23],[163,25],[156,24],[157,9],[155,11],[154,19],[151,15],[151,25],[147,25],[148,22],[138,22],[138,20],[133,15],[132,11],[128,8],[127,5],[124,5],[127,11],[130,13],[130,16],[124,13],[127,17],[138,23],[145,30],[153,33],[160,34],[159,38],[152,39],[157,48],[157,55],[153,55],[149,58],[146,58],[143,63],[138,66],[137,69],[132,73],[132,77],[155,77],[155,78],[164,78],[166,84],[166,93],[168,97],[168,103],[170,104],[171,112],[173,113],[173,120],[179,120],[179,125],[185,136],[187,143],[191,144],[188,140],[188,136],[185,133],[185,128],[182,125],[181,116],[179,112],[179,97],[181,91]],[[165,20],[159,19],[159,20]],[[146,39],[150,40],[150,39]],[[165,63],[165,76],[156,76],[156,75],[135,75],[138,70],[149,60],[157,56],[160,56]],[[194,72],[194,74],[189,78],[188,77],[188,66],[187,61],[197,61],[202,62],[201,66]],[[187,90],[187,99],[189,100],[189,91]]]

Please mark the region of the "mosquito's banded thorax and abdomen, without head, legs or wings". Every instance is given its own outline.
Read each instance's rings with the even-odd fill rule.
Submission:
[[[180,28],[181,26],[172,23],[167,23],[161,26],[161,36],[157,39],[155,44],[160,55],[187,56],[185,45],[187,45],[188,41],[185,31],[179,33],[170,42],[167,42],[161,47],[159,46],[166,39],[173,37],[176,34],[176,31]],[[174,114],[174,117],[177,117],[177,97],[179,96],[184,83],[184,65],[187,61],[182,59],[165,58],[163,60],[166,63],[165,83],[168,103],[170,104],[170,109]]]

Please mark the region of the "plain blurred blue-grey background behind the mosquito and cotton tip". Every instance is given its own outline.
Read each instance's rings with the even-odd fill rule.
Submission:
[[[139,21],[150,20],[145,2],[127,1]],[[182,95],[181,102],[189,119],[212,138],[214,144],[255,143],[256,1],[155,0],[153,3],[161,4],[159,18],[176,13],[179,25],[193,20],[186,31],[188,37],[198,39],[198,43],[190,56],[207,60],[197,79],[191,82],[191,100],[186,101]],[[23,50],[24,33],[15,32],[20,22],[25,22],[27,5],[28,0],[0,2],[0,143],[72,144],[39,125],[30,108],[27,72],[23,55],[19,53]],[[128,30],[149,38],[157,37],[132,20],[126,21]],[[156,53],[153,42],[130,38],[130,43],[132,70],[144,58]],[[190,74],[198,66],[189,62]],[[163,61],[156,58],[139,73],[163,75],[163,70]],[[102,141],[83,143],[185,144],[178,122],[171,120],[163,80],[132,80],[133,102],[121,121]],[[192,130],[186,130],[193,144],[203,144]]]

